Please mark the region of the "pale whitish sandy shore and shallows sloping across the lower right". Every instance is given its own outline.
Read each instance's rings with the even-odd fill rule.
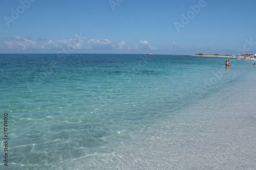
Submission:
[[[247,79],[248,81],[248,79]],[[241,82],[112,154],[81,158],[73,169],[255,169],[256,80]]]

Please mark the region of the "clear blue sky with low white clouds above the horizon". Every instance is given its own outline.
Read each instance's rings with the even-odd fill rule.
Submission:
[[[0,53],[256,54],[255,0],[0,1]]]

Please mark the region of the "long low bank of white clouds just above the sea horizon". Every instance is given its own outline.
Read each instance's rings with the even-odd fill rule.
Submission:
[[[10,39],[10,38],[9,38]],[[74,50],[112,50],[112,51],[187,51],[193,50],[195,47],[177,45],[173,42],[169,46],[156,47],[150,44],[150,42],[146,40],[138,41],[140,45],[126,45],[125,41],[116,42],[109,39],[86,39],[86,37],[77,36],[74,39],[62,39],[62,40],[52,40],[47,39],[46,37],[39,37],[36,40],[32,40],[30,36],[26,38],[22,38],[19,35],[15,35],[11,37],[9,41],[0,42],[0,51],[1,50],[17,50],[17,51],[25,51],[25,50],[56,50],[57,52],[62,49],[69,49],[69,51],[73,52]],[[208,48],[212,49],[212,46],[209,44]]]

